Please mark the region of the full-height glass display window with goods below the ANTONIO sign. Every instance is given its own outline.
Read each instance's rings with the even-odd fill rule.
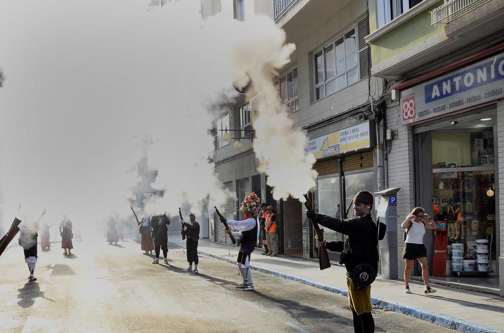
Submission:
[[[447,229],[448,260],[453,260],[452,244],[457,244],[463,257],[478,260],[475,271],[488,272],[496,258],[493,129],[432,131],[431,138],[433,215]],[[477,253],[481,239],[490,253]],[[465,273],[460,267],[457,271]]]

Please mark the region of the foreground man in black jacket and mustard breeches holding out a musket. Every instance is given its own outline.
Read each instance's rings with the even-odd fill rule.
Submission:
[[[319,223],[331,230],[347,235],[346,240],[320,242],[330,251],[341,252],[340,264],[344,264],[347,270],[348,306],[352,310],[353,325],[356,333],[374,332],[374,319],[371,314],[371,285],[358,286],[353,278],[355,267],[367,264],[378,268],[378,249],[376,225],[371,218],[370,212],[373,207],[374,197],[367,191],[360,191],[353,199],[355,218],[340,219],[322,214],[316,214],[313,210],[306,212],[306,217],[313,223]]]

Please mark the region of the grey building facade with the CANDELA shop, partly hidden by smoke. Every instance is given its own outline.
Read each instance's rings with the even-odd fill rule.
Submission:
[[[307,133],[305,152],[316,152],[313,168],[319,174],[318,187],[311,195],[319,212],[344,216],[357,191],[375,192],[379,184],[383,186],[383,181],[378,181],[383,163],[379,162],[376,140],[383,137],[380,104],[387,87],[384,80],[369,74],[365,2],[207,0],[202,2],[202,13],[204,17],[223,13],[245,21],[250,13],[267,15],[285,30],[287,43],[296,44],[291,62],[281,70],[276,85],[294,126]],[[232,132],[233,137],[246,136],[254,127],[250,120],[253,104],[254,99],[238,100],[223,108],[216,120],[216,170],[223,186],[236,194],[236,199],[230,198],[222,208],[228,218],[241,218],[239,203],[245,194],[255,191],[277,211],[279,253],[316,258],[314,233],[302,203],[293,198],[273,200],[267,177],[257,172],[250,140],[241,139],[238,144],[236,139],[228,143],[222,138],[220,130],[226,128],[245,131]],[[229,242],[214,220],[210,238]],[[325,235],[328,240],[342,239],[331,230]],[[333,259],[338,260],[338,255]]]

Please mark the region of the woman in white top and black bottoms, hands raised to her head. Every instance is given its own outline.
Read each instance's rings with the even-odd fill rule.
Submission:
[[[404,292],[411,294],[409,278],[416,259],[422,267],[422,278],[425,283],[424,293],[435,293],[436,291],[429,287],[429,265],[427,263],[427,249],[423,244],[423,235],[425,234],[425,228],[435,229],[436,223],[432,217],[425,213],[423,208],[415,207],[401,224],[401,227],[408,229],[403,251],[403,259],[406,264],[404,268]]]

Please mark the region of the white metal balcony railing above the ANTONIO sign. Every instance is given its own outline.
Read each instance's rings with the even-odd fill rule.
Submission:
[[[445,0],[445,3],[430,11],[431,25],[448,24],[493,0]]]

